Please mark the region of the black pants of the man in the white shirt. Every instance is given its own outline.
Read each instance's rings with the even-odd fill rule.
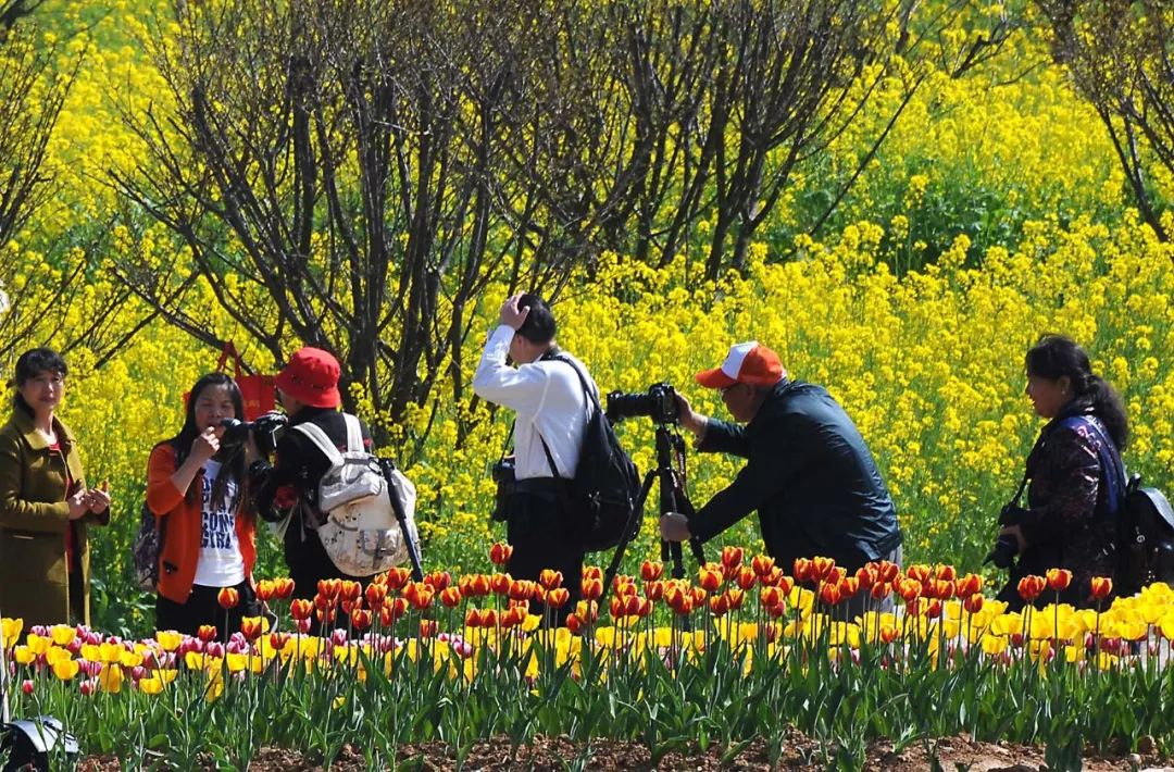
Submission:
[[[535,488],[546,486],[535,484]],[[508,510],[506,541],[513,548],[513,555],[506,570],[515,579],[534,582],[538,582],[542,569],[561,571],[562,586],[571,593],[571,599],[552,615],[552,623],[561,625],[582,597],[582,539],[552,489],[515,491],[510,497]],[[535,605],[531,612],[544,615],[545,609]]]

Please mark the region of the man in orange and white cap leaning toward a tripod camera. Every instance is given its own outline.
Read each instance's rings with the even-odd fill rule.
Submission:
[[[661,536],[706,542],[757,510],[767,552],[789,568],[831,557],[849,572],[870,560],[900,563],[902,533],[876,462],[844,409],[822,387],[790,381],[778,355],[736,343],[720,367],[696,375],[717,389],[735,423],[696,412],[677,394],[677,421],[702,452],[747,459],[691,517],[661,517]],[[865,610],[862,597],[848,613]]]

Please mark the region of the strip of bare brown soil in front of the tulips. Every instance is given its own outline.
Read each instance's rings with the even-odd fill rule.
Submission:
[[[877,741],[869,747],[864,768],[883,772],[913,772],[933,768],[931,757],[937,756],[939,768],[946,772],[970,770],[971,772],[1037,772],[1047,770],[1044,750],[1030,745],[1005,743],[976,743],[967,737],[952,737],[936,743],[917,741],[899,753],[892,743]],[[653,764],[648,748],[639,743],[595,740],[589,748],[575,745],[566,738],[539,738],[531,745],[511,753],[505,738],[478,743],[458,764],[456,752],[441,743],[405,745],[399,750],[397,766],[404,770],[439,772],[447,770],[770,770],[767,744],[755,740],[738,750],[731,758],[723,758],[722,750],[710,746],[706,752],[699,747],[688,753],[670,752],[657,764]],[[586,759],[586,763],[583,763]],[[818,743],[797,732],[791,732],[783,748],[778,767],[784,770],[810,770],[825,766]],[[82,772],[113,772],[120,768],[116,759],[88,757],[77,767]],[[322,770],[321,761],[297,751],[265,748],[250,765],[251,770],[274,772],[309,772]],[[345,746],[331,767],[343,772],[366,770],[363,753]],[[1116,758],[1089,756],[1085,758],[1085,770],[1107,772],[1109,770],[1174,770],[1163,766],[1156,754],[1146,757],[1125,754]]]

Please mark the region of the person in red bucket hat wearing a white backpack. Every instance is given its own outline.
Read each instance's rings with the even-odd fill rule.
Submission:
[[[298,424],[312,423],[340,451],[346,450],[346,418],[339,410],[340,371],[335,355],[323,349],[305,347],[290,356],[274,380],[289,425],[277,441],[274,464],[262,459],[250,466],[257,513],[276,524],[297,598],[312,598],[319,579],[356,578],[335,565],[318,538],[317,524],[323,519],[317,508],[318,484],[330,469],[330,459],[306,435],[291,431]],[[363,422],[359,428],[363,447],[370,451],[371,431]]]

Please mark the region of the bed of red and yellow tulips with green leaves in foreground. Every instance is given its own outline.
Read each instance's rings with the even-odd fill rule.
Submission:
[[[762,738],[774,763],[797,729],[821,741],[819,766],[858,768],[878,737],[899,747],[966,733],[1044,744],[1050,768],[1073,768],[1122,739],[1174,741],[1166,585],[1007,613],[979,576],[944,564],[848,576],[825,558],[783,570],[727,548],[686,579],[663,569],[645,562],[605,589],[586,568],[583,600],[558,629],[544,625],[567,602],[553,571],[534,583],[393,570],[366,586],[324,580],[312,600],[262,580],[272,624],[124,639],[5,619],[4,646],[18,713],[56,716],[87,752],[143,764],[241,768],[282,746],[329,766],[349,744],[380,767],[427,740],[459,764],[481,738],[517,750],[537,736],[637,740],[653,764],[690,747],[733,758]],[[1046,602],[1071,579],[1025,577],[1019,592]],[[1108,598],[1112,582],[1092,592]],[[845,618],[858,593],[896,612]]]

